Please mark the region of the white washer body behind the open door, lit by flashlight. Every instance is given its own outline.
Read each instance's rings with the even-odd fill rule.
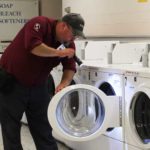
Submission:
[[[120,101],[120,121],[122,126],[108,128],[104,133],[105,136],[123,142],[124,141],[124,70],[93,66],[83,66],[86,76],[84,79],[87,84],[97,87],[106,95],[121,96]]]

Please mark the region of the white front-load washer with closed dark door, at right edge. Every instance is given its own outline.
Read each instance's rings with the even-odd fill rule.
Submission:
[[[150,69],[125,75],[126,150],[150,149]]]

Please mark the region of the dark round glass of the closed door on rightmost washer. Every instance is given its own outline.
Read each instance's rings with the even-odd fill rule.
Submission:
[[[144,144],[150,143],[150,99],[146,93],[134,95],[130,113],[138,137]]]

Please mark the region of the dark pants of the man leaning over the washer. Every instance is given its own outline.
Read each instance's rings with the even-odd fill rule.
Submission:
[[[47,83],[27,88],[14,84],[13,92],[0,92],[0,121],[4,150],[22,150],[20,130],[25,111],[29,129],[37,150],[57,150],[52,129],[47,118],[50,101]]]

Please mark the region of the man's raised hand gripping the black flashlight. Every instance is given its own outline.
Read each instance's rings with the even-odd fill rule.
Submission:
[[[72,48],[65,48],[65,49],[60,50],[58,52],[59,52],[59,57],[72,58],[75,54],[75,51]]]

